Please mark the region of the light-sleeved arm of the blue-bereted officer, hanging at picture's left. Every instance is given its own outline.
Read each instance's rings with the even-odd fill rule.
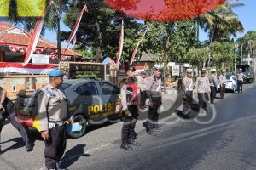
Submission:
[[[38,120],[40,125],[41,136],[44,140],[48,140],[48,115],[47,115],[48,98],[44,92],[38,94]]]

